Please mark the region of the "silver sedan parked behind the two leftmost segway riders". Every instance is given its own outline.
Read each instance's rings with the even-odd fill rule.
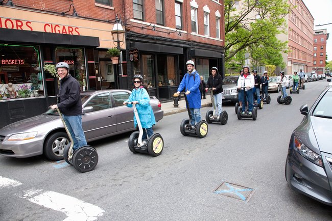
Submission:
[[[135,130],[133,110],[123,105],[128,90],[84,92],[82,126],[87,142]],[[150,99],[156,121],[163,118],[161,104]],[[0,129],[0,155],[25,158],[44,154],[50,160],[63,159],[68,135],[56,110],[12,123]]]

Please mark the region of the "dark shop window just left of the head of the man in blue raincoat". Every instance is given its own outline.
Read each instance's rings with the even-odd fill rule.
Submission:
[[[177,85],[175,75],[175,57],[158,55],[158,86]]]

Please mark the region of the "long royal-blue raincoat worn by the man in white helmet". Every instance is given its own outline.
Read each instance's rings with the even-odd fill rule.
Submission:
[[[194,80],[195,75],[195,80]],[[190,91],[187,95],[189,108],[201,108],[201,92],[199,91],[199,85],[201,84],[201,78],[199,73],[194,69],[192,73],[186,73],[181,80],[178,91],[184,92]]]

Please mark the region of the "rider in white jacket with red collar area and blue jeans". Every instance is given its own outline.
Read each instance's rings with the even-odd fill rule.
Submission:
[[[238,79],[238,89],[242,97],[242,115],[245,114],[246,103],[244,102],[247,99],[248,103],[248,114],[252,115],[253,109],[253,88],[255,87],[255,78],[254,75],[249,73],[249,66],[243,67],[244,74],[239,76]],[[245,90],[243,89],[245,87]]]

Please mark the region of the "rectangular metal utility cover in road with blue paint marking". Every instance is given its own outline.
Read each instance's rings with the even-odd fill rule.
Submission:
[[[242,201],[249,201],[254,194],[254,189],[234,183],[223,182],[215,191],[215,194],[225,195]]]

